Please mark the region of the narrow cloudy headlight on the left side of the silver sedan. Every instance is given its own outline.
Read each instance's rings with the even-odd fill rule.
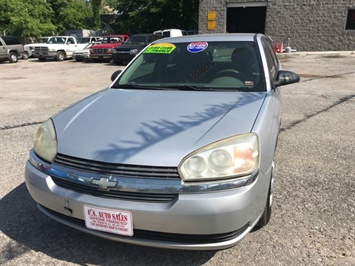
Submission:
[[[53,162],[57,154],[57,136],[52,119],[43,122],[38,128],[33,150],[43,160]]]

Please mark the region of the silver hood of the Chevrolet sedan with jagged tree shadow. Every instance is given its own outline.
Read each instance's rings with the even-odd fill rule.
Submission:
[[[53,117],[58,153],[178,166],[190,152],[250,132],[266,93],[106,89]]]

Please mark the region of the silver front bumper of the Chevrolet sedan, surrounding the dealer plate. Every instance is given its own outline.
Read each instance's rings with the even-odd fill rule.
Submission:
[[[39,208],[53,219],[78,230],[111,240],[159,248],[216,250],[237,244],[259,220],[265,202],[268,179],[261,173],[243,182],[224,182],[201,186],[200,191],[184,189],[167,201],[139,201],[98,197],[63,187],[57,177],[48,175],[40,167],[48,167],[31,152],[26,164],[27,188]],[[43,168],[43,169],[44,169]],[[68,171],[70,171],[68,169]],[[165,181],[165,180],[164,180]],[[135,186],[140,180],[136,179]],[[147,182],[145,180],[144,182]],[[150,182],[150,181],[149,181]],[[174,187],[177,185],[176,181]],[[164,182],[163,182],[164,183]],[[161,186],[161,181],[147,187]],[[226,189],[228,185],[230,189]],[[122,184],[127,191],[133,185]],[[191,186],[192,187],[192,186]],[[209,189],[212,187],[213,189]],[[147,189],[145,189],[147,190]],[[189,192],[191,191],[191,192]],[[167,191],[165,191],[167,192]],[[129,211],[132,213],[132,237],[88,229],[84,222],[84,205]]]

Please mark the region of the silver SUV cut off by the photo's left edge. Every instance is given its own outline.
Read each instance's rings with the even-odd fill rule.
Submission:
[[[23,54],[23,45],[13,36],[0,36],[0,61],[16,63]]]

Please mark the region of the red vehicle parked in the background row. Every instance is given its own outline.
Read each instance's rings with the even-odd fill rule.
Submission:
[[[90,58],[94,61],[108,60],[111,61],[113,49],[122,45],[127,39],[128,35],[109,35],[101,40],[101,44],[91,46]]]

